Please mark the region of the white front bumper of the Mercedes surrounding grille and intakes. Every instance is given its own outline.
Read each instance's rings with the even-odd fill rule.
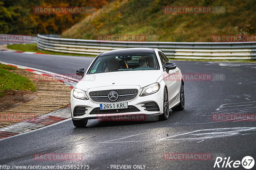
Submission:
[[[91,91],[98,91],[98,90],[108,90],[108,89],[138,89],[137,96],[132,100],[122,101],[122,102],[128,102],[128,108],[130,107],[136,107],[138,110],[135,112],[123,112],[123,113],[108,113],[107,110],[104,110],[104,114],[98,114],[99,112],[96,112],[95,108],[100,108],[100,102],[94,102],[92,101],[91,97],[89,96],[89,92]],[[74,120],[81,120],[81,119],[97,119],[98,117],[104,117],[106,115],[108,116],[124,116],[124,115],[161,115],[163,113],[163,94],[164,89],[160,87],[158,92],[148,95],[148,96],[140,96],[140,93],[142,91],[142,88],[140,86],[108,86],[108,87],[101,87],[101,88],[92,88],[88,89],[88,92],[86,92],[86,95],[88,96],[89,100],[81,100],[73,97],[73,89],[71,91],[71,114],[72,118]],[[155,102],[158,107],[159,111],[149,111],[145,110],[145,103],[149,102]],[[116,102],[120,103],[120,102]],[[76,106],[85,107],[84,115],[81,116],[74,116],[74,109]],[[92,114],[92,110],[94,110],[94,114]],[[121,109],[120,109],[121,110]],[[130,110],[131,111],[131,110]],[[91,114],[90,114],[91,113]]]

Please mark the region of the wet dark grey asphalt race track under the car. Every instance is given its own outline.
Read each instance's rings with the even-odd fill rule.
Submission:
[[[59,74],[74,74],[77,68],[87,68],[92,60],[92,57],[0,52],[0,61]],[[2,139],[0,165],[89,165],[89,169],[145,165],[148,170],[244,169],[242,165],[238,168],[213,168],[214,160],[164,160],[163,155],[211,153],[213,157],[222,155],[231,160],[242,161],[245,156],[256,160],[255,121],[212,121],[211,118],[212,114],[255,114],[256,63],[174,62],[182,74],[212,74],[217,78],[222,75],[222,80],[185,80],[185,110],[171,111],[167,121],[89,120],[86,128],[75,128],[68,119]],[[83,158],[81,161],[37,161],[33,159],[37,153],[76,153],[82,154]]]

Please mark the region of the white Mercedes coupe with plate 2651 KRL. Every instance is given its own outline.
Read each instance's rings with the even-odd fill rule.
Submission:
[[[110,116],[155,115],[185,107],[184,81],[176,64],[157,48],[124,48],[100,53],[71,91],[74,126]]]

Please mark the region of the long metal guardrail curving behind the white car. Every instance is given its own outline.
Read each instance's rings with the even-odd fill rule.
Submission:
[[[256,42],[124,42],[57,37],[38,34],[37,47],[55,52],[91,55],[120,48],[150,47],[159,48],[169,58],[177,59],[256,59]]]

